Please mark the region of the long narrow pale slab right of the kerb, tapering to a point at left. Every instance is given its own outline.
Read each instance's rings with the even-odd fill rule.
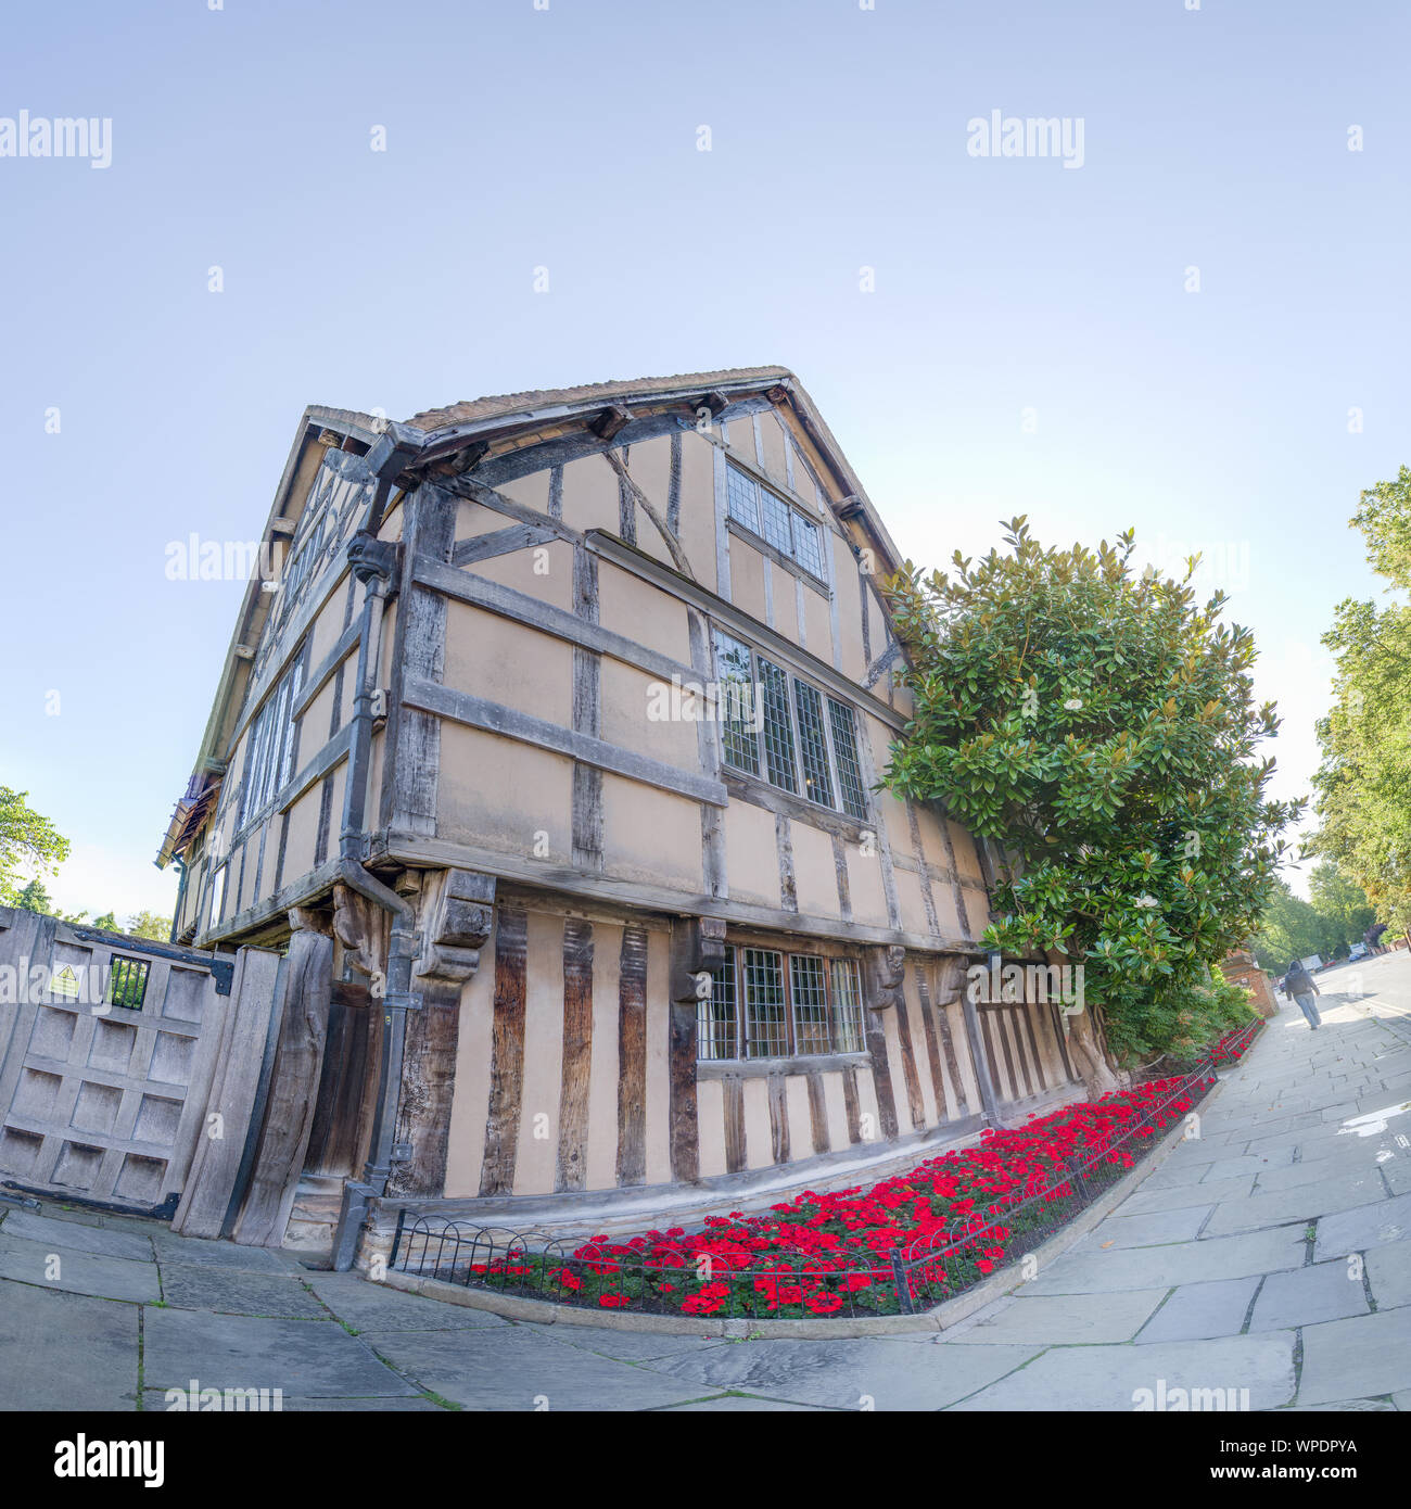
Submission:
[[[1197,1284],[1215,1278],[1251,1278],[1278,1269],[1301,1268],[1305,1245],[1301,1228],[1278,1227],[1243,1236],[1201,1237],[1174,1246],[1094,1251],[1099,1227],[1079,1248],[1050,1265],[1020,1293],[1094,1295],[1118,1289],[1153,1289]]]

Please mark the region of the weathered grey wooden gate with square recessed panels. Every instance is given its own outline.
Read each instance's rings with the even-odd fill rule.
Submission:
[[[222,1026],[269,1019],[276,966],[0,907],[0,1183],[171,1218]]]

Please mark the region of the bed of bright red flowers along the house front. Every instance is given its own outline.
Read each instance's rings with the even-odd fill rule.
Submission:
[[[478,1265],[477,1277],[513,1287],[507,1281],[522,1278],[525,1263],[539,1265],[546,1298],[604,1308],[895,1313],[895,1252],[908,1265],[913,1296],[934,1301],[969,1287],[1005,1262],[1017,1237],[1056,1228],[1070,1206],[1085,1203],[1070,1183],[1070,1165],[1093,1165],[1087,1188],[1121,1177],[1133,1154],[1185,1115],[1210,1082],[1136,1085],[1022,1127],[985,1129],[978,1147],[943,1153],[868,1188],[809,1189],[759,1215],[714,1216],[702,1231],[672,1227],[625,1242],[598,1236],[561,1263],[522,1254]]]

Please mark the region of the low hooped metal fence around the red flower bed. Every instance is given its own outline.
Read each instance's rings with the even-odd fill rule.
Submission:
[[[741,1251],[736,1266],[718,1255],[655,1259],[611,1239],[545,1240],[500,1227],[401,1210],[389,1266],[519,1298],[640,1314],[806,1319],[812,1316],[910,1314],[954,1299],[991,1272],[1008,1268],[1067,1225],[1123,1179],[1176,1115],[1192,1111],[1215,1083],[1221,1043],[1141,1115],[1090,1142],[1082,1157],[1031,1176],[1023,1198],[998,1195],[904,1243],[893,1228],[875,1233],[871,1249],[819,1251],[771,1231],[758,1262]],[[1240,1049],[1242,1052],[1242,1049]],[[943,1165],[936,1165],[937,1171]],[[982,1179],[972,1179],[984,1201]],[[918,1189],[918,1200],[925,1200]],[[755,1234],[755,1233],[750,1233]],[[720,1236],[720,1228],[712,1230]],[[745,1239],[741,1237],[741,1242]]]

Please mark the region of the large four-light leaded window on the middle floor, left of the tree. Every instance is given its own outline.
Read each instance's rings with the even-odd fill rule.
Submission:
[[[749,644],[715,631],[724,762],[815,806],[866,821],[857,717]]]

